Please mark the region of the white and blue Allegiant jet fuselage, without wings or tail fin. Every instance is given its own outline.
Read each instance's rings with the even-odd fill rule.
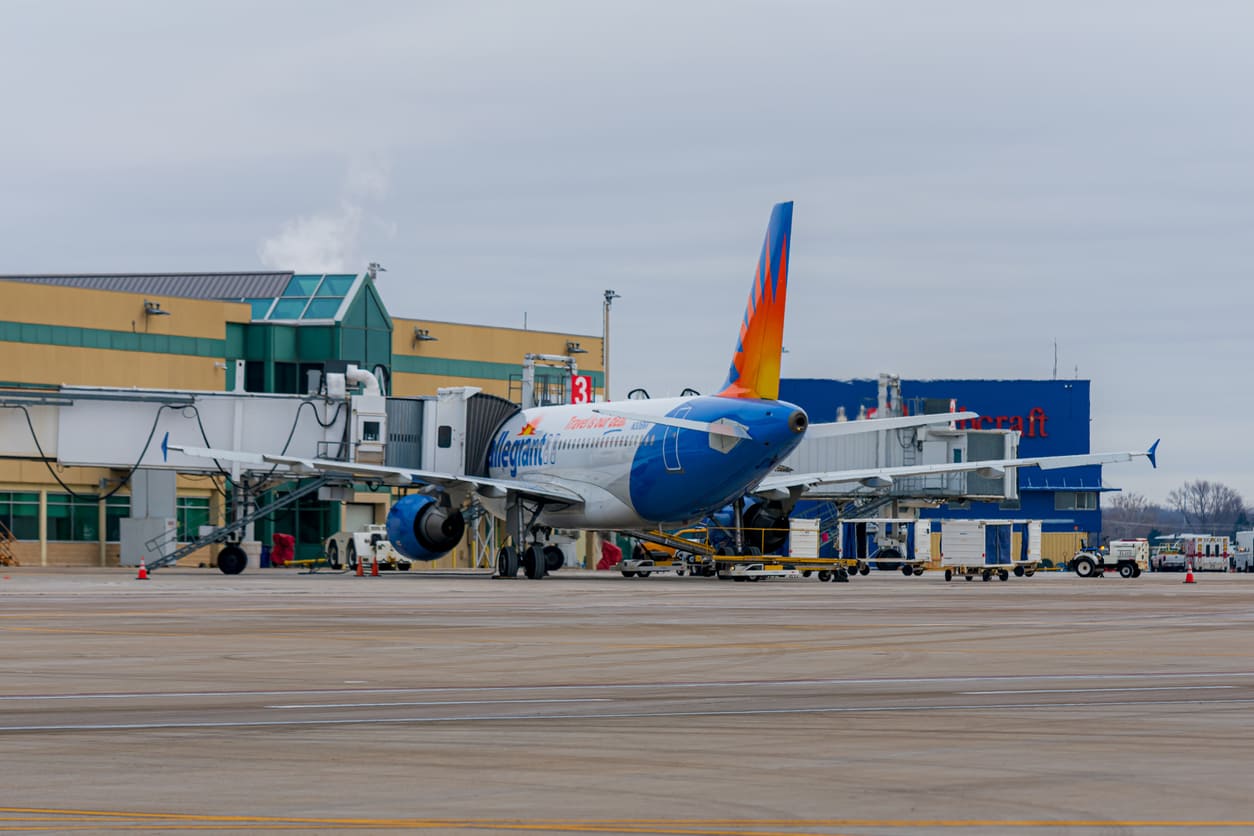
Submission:
[[[652,424],[594,410],[730,421],[749,439]],[[769,474],[801,440],[805,412],[784,401],[673,397],[524,410],[489,447],[493,479],[571,488],[584,501],[547,504],[538,524],[630,529],[682,524],[722,508]],[[504,500],[485,498],[504,515]]]

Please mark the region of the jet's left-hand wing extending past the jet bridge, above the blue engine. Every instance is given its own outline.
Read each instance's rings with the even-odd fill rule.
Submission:
[[[212,447],[191,447],[178,444],[162,444],[164,450],[173,450],[196,459],[216,459],[218,461],[238,461],[255,466],[280,466],[286,468],[296,476],[314,476],[331,474],[347,476],[362,481],[382,481],[389,485],[409,486],[421,485],[469,485],[475,490],[488,491],[513,491],[528,496],[538,496],[553,501],[578,505],[583,503],[583,496],[567,485],[548,481],[533,481],[524,479],[489,479],[487,476],[459,476],[456,474],[438,473],[434,470],[411,470],[409,468],[390,468],[387,465],[367,465],[354,461],[336,461],[334,459],[300,459],[297,456],[280,456],[266,452],[243,452],[240,450],[214,450]],[[499,493],[497,495],[500,495]]]

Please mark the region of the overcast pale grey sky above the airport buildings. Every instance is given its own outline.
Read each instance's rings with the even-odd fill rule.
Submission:
[[[1109,485],[1254,503],[1250,31],[1224,0],[9,0],[0,272],[376,261],[394,315],[594,336],[612,288],[611,395],[709,392],[795,201],[785,376],[1090,379],[1095,450],[1162,437]]]

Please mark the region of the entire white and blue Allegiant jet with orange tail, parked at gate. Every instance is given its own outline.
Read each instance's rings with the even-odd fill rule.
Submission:
[[[434,560],[461,541],[461,508],[474,494],[504,519],[513,545],[500,549],[497,570],[542,578],[561,565],[547,544],[554,528],[642,530],[698,520],[729,504],[760,495],[786,508],[806,490],[845,481],[890,480],[922,473],[988,470],[1040,464],[1016,459],[954,465],[883,468],[823,474],[776,474],[776,465],[805,435],[805,412],[779,400],[784,308],[791,257],[793,204],[771,212],[766,241],[740,323],[727,380],[717,395],[630,400],[519,410],[494,432],[487,475],[410,470],[385,465],[298,459],[168,445],[187,455],[286,466],[293,474],[329,473],[418,486],[387,515],[393,546],[415,560]],[[821,435],[893,430],[973,417],[972,412],[850,421],[811,427]],[[1057,466],[1126,461],[1140,454],[1062,456]]]

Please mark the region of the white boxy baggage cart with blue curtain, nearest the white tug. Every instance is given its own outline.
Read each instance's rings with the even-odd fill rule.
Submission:
[[[940,525],[940,568],[946,580],[956,577],[1009,580],[1011,573],[1031,578],[1040,563],[1040,520],[944,520]]]

